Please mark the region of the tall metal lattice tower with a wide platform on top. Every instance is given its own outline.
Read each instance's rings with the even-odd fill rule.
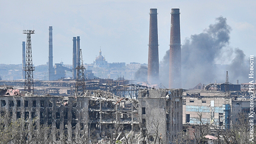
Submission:
[[[23,30],[23,34],[27,34],[27,49],[26,49],[26,65],[24,68],[25,71],[25,88],[24,91],[28,91],[34,94],[34,79],[32,63],[32,48],[31,48],[31,34],[35,34],[35,30]]]

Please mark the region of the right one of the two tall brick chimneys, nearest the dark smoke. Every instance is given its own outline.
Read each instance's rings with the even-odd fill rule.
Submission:
[[[169,88],[181,88],[180,9],[171,9]]]

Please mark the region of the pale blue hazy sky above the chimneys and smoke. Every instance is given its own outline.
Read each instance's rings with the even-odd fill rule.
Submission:
[[[0,0],[0,63],[22,63],[25,28],[35,30],[33,64],[46,64],[49,26],[54,63],[72,64],[75,36],[80,36],[84,63],[93,63],[100,46],[110,63],[148,63],[150,8],[158,12],[160,60],[169,49],[171,8],[180,8],[182,44],[223,16],[232,28],[229,46],[256,55],[255,0]]]

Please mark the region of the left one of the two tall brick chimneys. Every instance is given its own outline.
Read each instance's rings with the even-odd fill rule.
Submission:
[[[148,82],[159,82],[157,9],[150,9],[149,13]]]

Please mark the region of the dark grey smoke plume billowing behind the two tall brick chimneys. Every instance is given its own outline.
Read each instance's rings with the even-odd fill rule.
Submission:
[[[228,49],[231,27],[227,19],[222,16],[216,18],[200,34],[186,38],[181,48],[182,87],[193,88],[199,83],[224,83],[225,73],[229,73],[229,82],[246,82],[248,67],[245,64],[246,56],[241,49]],[[226,57],[228,55],[229,57]],[[230,64],[223,64],[231,58]],[[169,77],[169,50],[160,62],[160,80],[168,86]]]

